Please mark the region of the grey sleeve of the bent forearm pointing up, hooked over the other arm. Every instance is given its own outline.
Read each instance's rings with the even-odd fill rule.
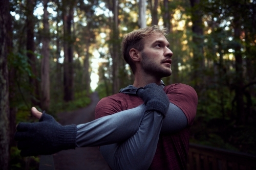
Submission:
[[[145,112],[134,135],[123,142],[102,145],[101,155],[113,170],[148,169],[157,149],[162,123],[161,113]]]

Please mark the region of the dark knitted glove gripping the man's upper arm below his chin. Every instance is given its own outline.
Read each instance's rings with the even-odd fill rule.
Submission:
[[[137,94],[146,105],[146,111],[155,110],[165,117],[170,102],[161,86],[156,83],[147,84],[143,88],[138,88]]]

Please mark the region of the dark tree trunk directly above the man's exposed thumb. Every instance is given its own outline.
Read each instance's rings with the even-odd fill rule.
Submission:
[[[35,44],[34,44],[34,0],[27,0],[27,56],[29,58],[29,63],[31,66],[31,72],[34,76],[29,76],[29,82],[31,86],[31,102],[34,106],[39,106],[39,85],[36,70],[36,57]]]

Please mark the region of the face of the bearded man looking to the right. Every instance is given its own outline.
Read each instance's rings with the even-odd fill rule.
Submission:
[[[146,74],[163,78],[172,75],[170,65],[173,52],[169,50],[169,43],[162,34],[153,34],[144,39],[141,52],[141,67]]]

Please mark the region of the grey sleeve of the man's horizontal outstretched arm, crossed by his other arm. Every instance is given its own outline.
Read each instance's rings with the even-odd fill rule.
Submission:
[[[145,105],[104,116],[92,122],[77,125],[76,147],[92,147],[118,143],[134,135],[144,116]],[[183,111],[170,103],[163,119],[161,133],[174,133],[187,126]]]

